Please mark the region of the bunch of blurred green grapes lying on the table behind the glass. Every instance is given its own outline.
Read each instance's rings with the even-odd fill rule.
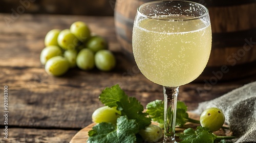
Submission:
[[[92,35],[82,21],[72,23],[70,29],[49,31],[45,46],[40,62],[53,76],[61,76],[74,67],[90,70],[96,66],[99,70],[110,71],[116,65],[114,54],[108,50],[108,42],[101,36]]]

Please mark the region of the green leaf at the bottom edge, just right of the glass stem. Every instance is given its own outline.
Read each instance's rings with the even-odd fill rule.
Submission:
[[[198,126],[196,131],[191,128],[184,130],[184,134],[180,136],[180,143],[214,143],[216,138],[217,136],[209,129]]]

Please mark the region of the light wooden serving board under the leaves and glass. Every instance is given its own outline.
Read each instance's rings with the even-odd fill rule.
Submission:
[[[199,117],[200,117],[199,115],[191,113],[191,112],[188,112],[188,115],[189,115],[190,118],[193,118],[195,120],[199,120]],[[152,123],[152,124],[155,124],[155,123]],[[70,143],[86,143],[87,139],[89,138],[88,132],[90,130],[92,130],[92,127],[95,126],[95,125],[96,125],[95,123],[92,123],[92,124],[88,125],[87,127],[81,129],[71,139]],[[188,123],[184,127],[185,128],[196,128],[197,126],[199,126],[199,125],[198,124]],[[176,132],[183,132],[183,130],[184,130],[183,128],[176,128]],[[222,130],[222,129],[220,129],[219,131],[216,131],[215,134],[217,134],[219,136],[227,135],[227,133],[224,130]],[[230,135],[230,134],[228,134],[228,135]]]

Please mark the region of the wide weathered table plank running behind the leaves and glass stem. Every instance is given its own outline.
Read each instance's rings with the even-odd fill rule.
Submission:
[[[119,84],[129,96],[136,97],[144,107],[150,101],[163,99],[162,87],[141,74],[121,77],[122,73],[94,73],[74,69],[67,77],[55,78],[42,75],[44,71],[40,68],[5,70],[9,70],[6,73],[17,75],[12,76],[11,80],[0,80],[1,84],[9,86],[9,124],[13,126],[86,127],[92,123],[93,111],[102,106],[98,100],[101,90],[114,84]],[[178,99],[184,101],[190,110],[195,109],[199,102],[219,97],[250,80],[228,85],[219,83],[211,89],[204,88],[202,83],[191,83],[180,87]],[[3,110],[2,106],[0,110]]]

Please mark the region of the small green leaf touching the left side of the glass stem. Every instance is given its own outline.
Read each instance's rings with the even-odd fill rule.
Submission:
[[[155,100],[146,105],[146,113],[150,115],[153,121],[160,124],[164,123],[164,102]]]

